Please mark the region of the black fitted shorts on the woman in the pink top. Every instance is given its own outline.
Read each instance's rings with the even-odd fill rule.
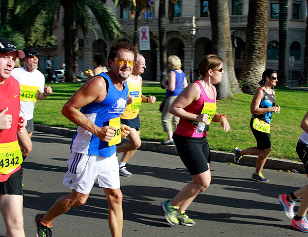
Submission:
[[[207,163],[210,163],[210,151],[206,136],[187,137],[174,133],[172,138],[182,162],[191,175],[208,170]]]

